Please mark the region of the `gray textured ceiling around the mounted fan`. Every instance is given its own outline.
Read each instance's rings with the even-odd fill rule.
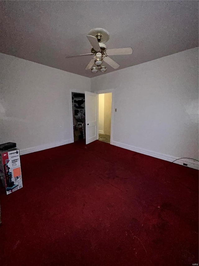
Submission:
[[[110,56],[118,69],[198,46],[198,1],[0,1],[0,22],[0,52],[90,78],[116,70],[65,56],[90,53],[92,28],[110,32],[108,49],[133,48]]]

